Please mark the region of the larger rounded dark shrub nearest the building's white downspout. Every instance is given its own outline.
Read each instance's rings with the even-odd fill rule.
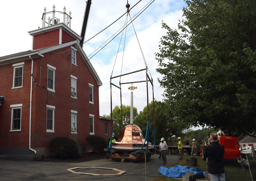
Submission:
[[[61,158],[77,158],[80,155],[76,141],[65,136],[53,138],[50,148],[56,156]]]

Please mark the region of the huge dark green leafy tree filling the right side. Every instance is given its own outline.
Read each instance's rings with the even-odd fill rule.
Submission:
[[[189,126],[254,132],[256,1],[186,3],[181,33],[163,22],[167,33],[156,53],[166,112]]]

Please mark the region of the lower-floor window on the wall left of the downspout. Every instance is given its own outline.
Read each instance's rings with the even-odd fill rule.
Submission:
[[[12,119],[11,119],[10,131],[20,131],[22,104],[14,104],[14,105],[10,105],[10,107],[12,108]]]

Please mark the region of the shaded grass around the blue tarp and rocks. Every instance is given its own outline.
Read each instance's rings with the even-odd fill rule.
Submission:
[[[178,157],[178,156],[177,156]],[[170,167],[174,167],[175,165],[181,165],[181,166],[188,166],[186,165],[186,160],[190,156],[183,156],[183,160],[180,160],[179,162],[171,165]],[[195,167],[203,171],[207,171],[208,165],[205,160],[203,160],[202,156],[195,156],[197,158],[197,166],[190,166]],[[251,163],[251,171],[252,174],[256,172],[256,160],[249,160]],[[224,163],[224,169],[226,172],[226,181],[241,181],[241,180],[252,180],[251,178],[247,178],[247,173],[249,170],[243,171],[241,170],[242,167],[237,163],[237,160],[225,160]],[[254,171],[255,170],[255,171]],[[249,173],[250,174],[250,173]],[[252,176],[255,177],[255,176]],[[161,176],[154,178],[152,181],[177,181],[180,180],[180,178],[170,178],[166,176]],[[196,180],[204,180],[204,177],[196,178]]]

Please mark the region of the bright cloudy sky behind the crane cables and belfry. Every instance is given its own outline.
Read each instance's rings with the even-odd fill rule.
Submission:
[[[138,0],[129,0],[128,3],[132,8]],[[130,16],[135,16],[150,0],[142,0],[130,11]],[[89,21],[86,30],[85,41],[99,33],[108,25],[113,23],[117,18],[126,12],[127,0],[92,0]],[[71,29],[76,33],[81,33],[84,10],[86,6],[85,0],[14,0],[1,2],[1,51],[0,56],[14,54],[22,51],[31,50],[32,36],[28,31],[36,30],[42,27],[42,14],[44,7],[46,12],[52,11],[55,5],[55,11],[66,12],[71,11]],[[155,59],[155,53],[159,50],[160,38],[166,34],[166,30],[162,29],[161,23],[164,21],[172,29],[177,29],[178,20],[182,19],[182,8],[186,6],[183,0],[155,0],[138,18],[133,21],[135,32],[138,36],[142,53],[148,65],[149,72],[154,82],[154,97],[158,101],[162,101],[163,89],[157,81],[161,75],[156,72],[158,62]],[[46,19],[52,15],[47,15]],[[63,21],[62,14],[55,14],[55,17]],[[125,23],[126,15],[120,18],[114,25],[92,38],[84,44],[84,52],[89,58],[98,47],[107,41],[114,33],[116,33]],[[130,17],[129,17],[130,19]],[[104,47],[99,53],[95,54],[91,59],[91,63],[98,73],[103,85],[99,88],[100,97],[100,115],[110,113],[110,76],[113,70],[113,76],[117,76],[128,72],[133,72],[145,68],[144,59],[140,51],[139,43],[136,39],[132,24],[127,27],[125,44],[124,35],[121,41],[121,33]],[[119,51],[118,51],[119,47]],[[123,53],[124,50],[124,53]],[[118,51],[118,55],[117,55]],[[116,58],[117,57],[117,58]],[[116,60],[116,63],[115,63]],[[123,66],[122,65],[123,62]],[[115,66],[114,66],[115,63]],[[122,67],[122,69],[121,69]],[[121,77],[121,82],[133,82],[146,80],[146,72],[130,74]],[[119,78],[112,79],[112,83],[119,86]],[[128,87],[132,84],[122,84],[122,104],[130,105],[131,91]],[[133,106],[137,107],[138,112],[143,110],[147,105],[146,83],[134,83],[137,87],[133,91]],[[148,84],[149,102],[152,101],[152,87]],[[112,86],[112,104],[120,105],[120,91]]]

